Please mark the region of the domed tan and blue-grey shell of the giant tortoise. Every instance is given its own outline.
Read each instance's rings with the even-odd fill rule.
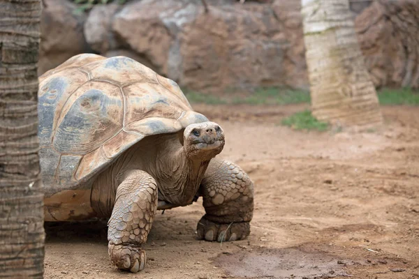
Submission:
[[[38,136],[46,196],[89,187],[148,135],[208,121],[179,86],[124,56],[79,54],[40,77]]]

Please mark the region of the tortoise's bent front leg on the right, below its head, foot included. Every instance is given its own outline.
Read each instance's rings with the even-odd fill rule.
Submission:
[[[253,183],[237,165],[212,160],[200,186],[205,216],[198,222],[198,239],[235,241],[250,233]]]

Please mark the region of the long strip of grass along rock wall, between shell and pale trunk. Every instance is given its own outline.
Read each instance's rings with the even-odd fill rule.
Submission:
[[[184,93],[191,103],[207,103],[211,105],[289,105],[310,103],[309,91],[279,87],[259,88],[246,96],[237,96],[237,93],[226,93],[223,97],[219,97],[188,90],[184,90]]]

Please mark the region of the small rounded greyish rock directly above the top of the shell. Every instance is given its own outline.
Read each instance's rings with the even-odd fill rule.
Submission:
[[[120,47],[112,32],[112,19],[122,6],[117,4],[96,5],[91,9],[84,23],[84,36],[90,47],[104,54]]]

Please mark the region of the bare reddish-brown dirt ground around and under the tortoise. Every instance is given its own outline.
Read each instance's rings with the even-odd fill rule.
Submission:
[[[197,241],[202,199],[159,211],[132,274],[110,264],[105,222],[49,223],[45,278],[419,278],[418,108],[383,107],[370,133],[279,126],[304,105],[195,108],[255,184],[248,239]]]

